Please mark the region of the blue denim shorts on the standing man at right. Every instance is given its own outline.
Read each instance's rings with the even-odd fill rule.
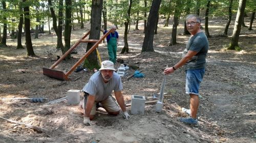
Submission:
[[[205,69],[186,70],[186,94],[199,95]]]

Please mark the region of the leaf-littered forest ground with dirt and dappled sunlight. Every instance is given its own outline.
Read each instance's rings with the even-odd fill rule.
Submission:
[[[182,20],[182,19],[181,19]],[[248,25],[249,17],[245,19]],[[170,21],[172,23],[172,21]],[[181,52],[189,38],[183,35],[183,22],[179,24],[177,45],[169,46],[172,26],[163,27],[159,22],[158,34],[154,36],[155,52],[141,53],[143,23],[139,31],[131,30],[128,35],[130,53],[119,54],[123,47],[124,27],[119,27],[118,58],[129,65],[145,70],[145,77],[123,80],[125,103],[131,103],[132,95],[142,95],[146,101],[159,93],[166,65],[173,66],[181,59]],[[93,71],[72,72],[70,81],[61,81],[42,74],[53,60],[61,55],[56,50],[56,35],[41,34],[32,39],[36,57],[27,57],[26,49],[16,50],[16,40],[8,39],[8,47],[0,48],[0,116],[44,127],[50,133],[38,132],[22,125],[0,119],[0,142],[256,142],[255,93],[256,93],[256,26],[252,31],[242,27],[239,45],[241,51],[225,50],[229,44],[234,20],[228,37],[222,34],[225,19],[211,18],[209,21],[209,51],[206,73],[201,83],[198,127],[184,125],[178,121],[186,116],[181,107],[189,107],[189,97],[184,93],[185,71],[180,68],[168,75],[165,85],[164,107],[155,112],[155,104],[146,104],[144,115],[131,115],[124,120],[121,115],[113,117],[100,110],[92,126],[84,126],[78,106],[67,105],[66,101],[46,105],[4,98],[44,97],[48,101],[66,97],[68,90],[81,90]],[[72,43],[88,32],[90,25],[72,31]],[[23,39],[23,44],[25,39]],[[99,45],[101,60],[108,60],[106,44]],[[67,71],[82,56],[86,44],[77,48],[70,61],[63,61],[56,69]],[[119,63],[115,65],[119,67]],[[129,75],[135,70],[129,69]],[[130,111],[131,107],[127,107]]]

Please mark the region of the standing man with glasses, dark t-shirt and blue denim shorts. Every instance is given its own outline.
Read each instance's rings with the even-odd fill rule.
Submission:
[[[186,17],[186,26],[191,36],[183,51],[182,59],[173,67],[166,68],[163,73],[173,73],[185,65],[185,89],[186,94],[190,96],[190,116],[188,118],[181,118],[180,121],[185,124],[198,125],[199,87],[205,73],[206,54],[209,44],[206,35],[201,30],[201,20],[197,15],[188,15]]]

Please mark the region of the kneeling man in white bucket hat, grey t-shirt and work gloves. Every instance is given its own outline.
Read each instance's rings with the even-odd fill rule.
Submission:
[[[119,106],[111,96],[114,90],[117,103],[120,105],[123,111],[123,117],[129,119],[130,115],[126,111],[126,107],[121,93],[122,82],[120,76],[114,72],[114,63],[111,61],[103,61],[99,71],[95,72],[89,82],[83,87],[83,91],[87,96],[87,103],[85,107],[85,115],[83,118],[83,124],[86,126],[91,125],[90,120],[93,120],[96,114],[96,104],[101,103],[101,106],[110,114],[118,115]]]

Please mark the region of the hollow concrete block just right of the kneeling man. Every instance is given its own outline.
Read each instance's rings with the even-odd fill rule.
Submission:
[[[131,114],[144,115],[145,96],[132,95]]]

